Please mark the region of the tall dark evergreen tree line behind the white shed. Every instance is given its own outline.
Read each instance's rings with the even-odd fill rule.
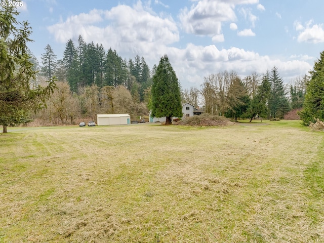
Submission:
[[[81,35],[75,46],[71,39],[66,43],[63,58],[57,60],[52,47],[47,45],[42,54],[41,74],[48,79],[54,75],[66,81],[73,93],[79,94],[88,86],[124,86],[140,101],[144,101],[145,90],[151,86],[151,73],[144,57],[135,56],[127,61],[116,50],[106,52],[102,44],[86,43]],[[37,64],[36,64],[37,65]],[[152,68],[152,72],[156,66]]]

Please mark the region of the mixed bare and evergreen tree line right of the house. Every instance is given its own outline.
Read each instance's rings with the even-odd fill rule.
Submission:
[[[283,118],[291,109],[301,108],[308,77],[285,87],[274,66],[263,75],[252,73],[240,78],[235,71],[224,71],[204,77],[201,95],[205,111],[234,118]]]

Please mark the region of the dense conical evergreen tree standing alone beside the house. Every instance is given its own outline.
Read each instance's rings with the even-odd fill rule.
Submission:
[[[181,92],[177,75],[167,55],[161,57],[153,76],[151,116],[166,116],[166,124],[172,117],[182,117]]]

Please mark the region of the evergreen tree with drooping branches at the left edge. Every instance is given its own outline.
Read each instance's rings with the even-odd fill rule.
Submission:
[[[30,88],[30,80],[36,77],[27,48],[27,43],[32,41],[29,38],[31,27],[25,21],[18,22],[16,8],[6,3],[0,8],[0,125],[3,133],[7,133],[8,126],[29,121],[30,112],[41,109],[55,88],[53,79],[45,88]]]

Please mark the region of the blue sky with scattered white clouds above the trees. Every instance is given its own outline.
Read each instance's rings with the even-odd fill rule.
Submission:
[[[189,89],[225,70],[243,78],[275,66],[285,83],[309,74],[324,51],[323,9],[323,0],[24,0],[18,20],[32,27],[39,63],[46,45],[62,59],[82,35],[150,69],[167,54]]]

